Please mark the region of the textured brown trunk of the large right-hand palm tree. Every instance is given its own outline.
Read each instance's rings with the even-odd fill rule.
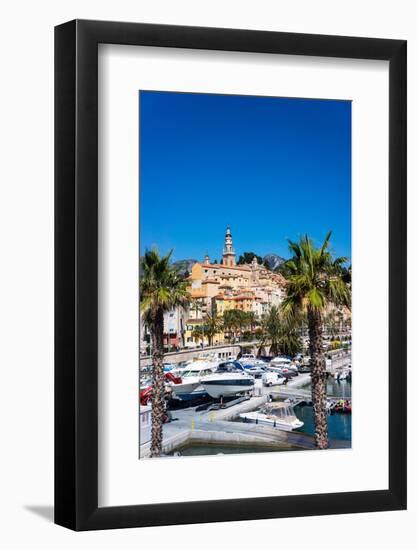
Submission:
[[[310,339],[311,398],[314,410],[314,438],[318,449],[327,449],[326,369],[322,345],[322,322],[319,311],[309,308],[308,332]]]

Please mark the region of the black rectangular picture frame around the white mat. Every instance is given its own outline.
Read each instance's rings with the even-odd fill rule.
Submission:
[[[98,507],[98,44],[389,62],[389,488]],[[74,20],[55,28],[55,522],[74,530],[406,508],[406,41]]]

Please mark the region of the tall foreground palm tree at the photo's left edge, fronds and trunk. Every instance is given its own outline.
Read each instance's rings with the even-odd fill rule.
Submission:
[[[142,262],[140,306],[152,341],[152,439],[151,457],[160,456],[164,416],[164,313],[185,307],[189,301],[187,281],[170,264],[172,251],[161,257],[147,250]]]

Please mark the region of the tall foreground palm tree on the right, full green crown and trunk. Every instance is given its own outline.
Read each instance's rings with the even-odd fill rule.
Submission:
[[[312,381],[312,401],[315,423],[315,442],[319,449],[329,445],[326,416],[326,368],[323,353],[322,317],[328,304],[350,308],[350,284],[343,278],[347,258],[332,257],[329,250],[331,231],[320,248],[305,235],[294,243],[289,241],[293,257],[286,262],[287,297],[283,311],[290,318],[307,314]]]

